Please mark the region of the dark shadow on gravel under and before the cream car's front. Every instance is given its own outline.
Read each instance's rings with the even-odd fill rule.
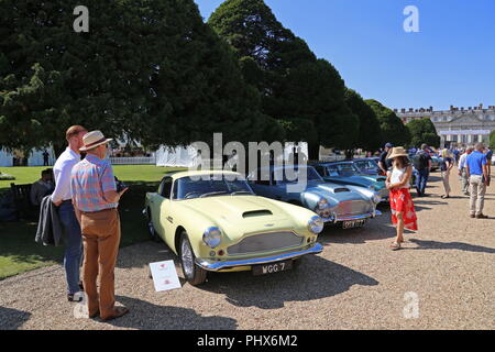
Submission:
[[[342,294],[353,285],[375,286],[373,277],[316,255],[292,271],[266,276],[251,272],[209,274],[199,289],[226,295],[238,307],[283,308],[288,301],[309,301]],[[296,317],[295,317],[296,318]]]

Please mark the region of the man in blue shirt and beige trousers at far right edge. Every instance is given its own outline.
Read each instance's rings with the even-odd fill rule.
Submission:
[[[466,175],[470,180],[471,218],[476,219],[488,218],[483,215],[486,186],[490,184],[486,155],[483,154],[484,148],[483,143],[476,143],[474,152],[468,155],[465,161]]]

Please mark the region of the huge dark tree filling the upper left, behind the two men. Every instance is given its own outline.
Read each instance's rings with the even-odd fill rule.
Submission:
[[[193,0],[87,0],[89,33],[78,4],[0,0],[0,146],[59,148],[72,124],[151,146],[282,138]]]

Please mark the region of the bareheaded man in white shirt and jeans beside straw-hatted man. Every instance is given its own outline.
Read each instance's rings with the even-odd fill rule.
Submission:
[[[74,212],[70,193],[70,173],[74,165],[80,161],[79,147],[82,146],[82,135],[88,131],[81,125],[70,127],[66,133],[68,146],[61,154],[53,167],[55,190],[52,202],[58,207],[58,216],[64,228],[64,268],[67,279],[67,299],[75,300],[75,294],[81,290],[79,267],[82,255],[82,239],[79,222]],[[80,300],[82,297],[77,298]]]

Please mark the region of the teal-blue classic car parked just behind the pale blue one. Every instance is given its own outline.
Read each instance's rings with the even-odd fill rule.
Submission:
[[[388,189],[385,176],[366,175],[360,172],[354,162],[331,162],[315,165],[317,172],[326,182],[365,187],[380,194],[382,201],[388,200]]]

